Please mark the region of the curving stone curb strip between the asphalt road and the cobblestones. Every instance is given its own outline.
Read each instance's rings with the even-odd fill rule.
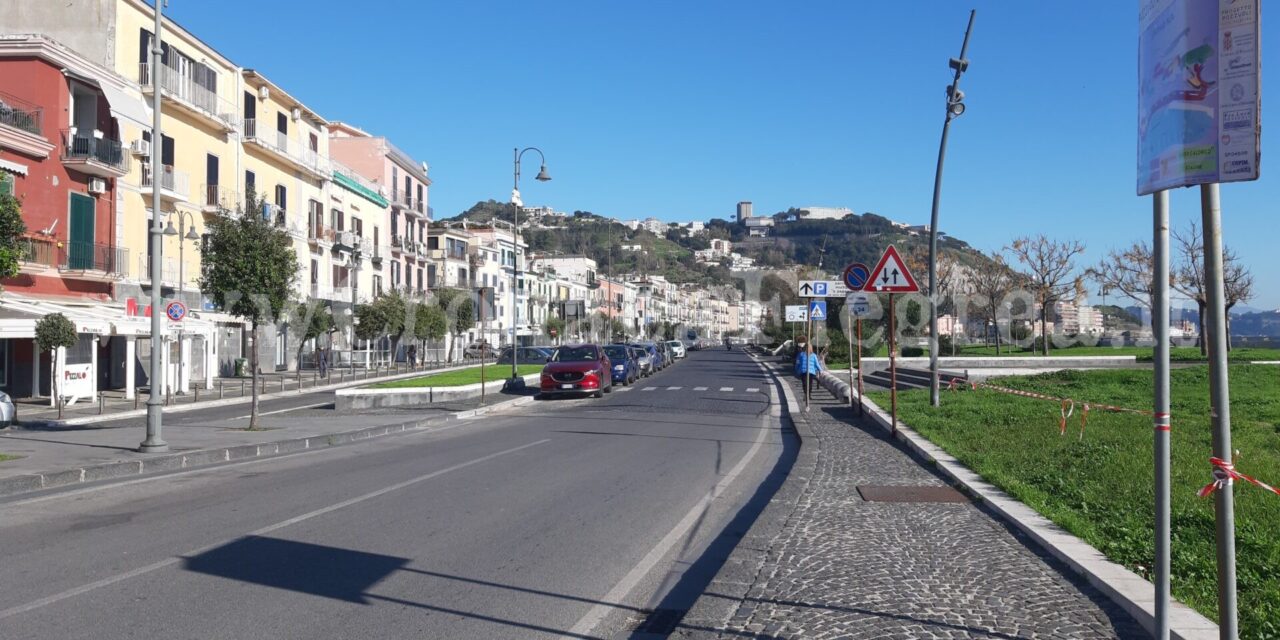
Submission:
[[[783,428],[790,422],[795,429],[800,449],[796,452],[796,460],[791,465],[786,480],[782,481],[769,504],[756,516],[755,522],[730,552],[724,564],[703,590],[703,595],[685,613],[672,637],[707,640],[719,637],[724,625],[741,614],[740,609],[746,600],[748,591],[759,582],[760,571],[765,568],[769,545],[791,520],[796,504],[808,490],[809,481],[818,466],[819,440],[813,438],[813,430],[804,416],[800,401],[796,399],[791,385],[782,378],[786,375],[785,371],[780,371],[780,367],[773,364],[760,362],[754,353],[749,355],[765,372],[773,376],[774,384],[782,388],[783,402],[780,417]]]

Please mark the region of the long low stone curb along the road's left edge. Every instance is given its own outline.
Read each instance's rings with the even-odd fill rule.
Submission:
[[[152,456],[143,460],[106,462],[102,465],[92,465],[81,468],[10,476],[0,479],[0,498],[9,498],[24,493],[41,492],[45,489],[56,489],[60,486],[95,483],[99,480],[110,480],[127,476],[141,476],[147,474],[159,474],[164,471],[175,471],[180,468],[214,467],[218,465],[227,465],[230,462],[239,462],[250,458],[269,458],[289,453],[298,453],[308,449],[338,447],[342,444],[351,444],[351,443],[370,440],[374,438],[381,438],[384,435],[393,435],[406,431],[413,431],[417,429],[426,429],[429,426],[436,426],[467,417],[483,416],[493,411],[517,407],[531,402],[534,402],[534,397],[525,396],[520,398],[512,398],[509,401],[498,402],[495,404],[489,404],[486,407],[460,411],[447,416],[430,417],[426,420],[411,420],[407,422],[401,422],[398,425],[367,426],[364,429],[355,429],[351,431],[339,431],[325,435],[291,438],[287,440],[265,442],[257,444],[238,444],[232,447],[219,447],[214,449],[196,449],[183,453],[166,453],[160,456]]]

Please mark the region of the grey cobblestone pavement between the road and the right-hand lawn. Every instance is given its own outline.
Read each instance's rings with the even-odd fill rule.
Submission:
[[[803,397],[799,385],[792,389]],[[719,605],[695,607],[677,636],[1146,636],[1119,607],[1065,577],[1069,570],[972,503],[864,502],[859,485],[945,483],[828,393],[815,393],[796,422],[805,448],[817,448],[801,479],[806,486],[772,539],[744,539],[756,548],[755,567],[741,567],[755,568],[754,577],[717,577],[703,600]],[[708,611],[727,620],[708,620]]]

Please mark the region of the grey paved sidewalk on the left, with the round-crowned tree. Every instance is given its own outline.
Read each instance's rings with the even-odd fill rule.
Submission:
[[[399,376],[421,375],[402,370]],[[387,378],[387,376],[384,376]],[[394,376],[392,376],[394,378]],[[347,383],[352,383],[348,378]],[[360,383],[364,384],[361,379]],[[325,390],[320,387],[320,390]],[[310,384],[305,387],[310,393]],[[489,394],[480,398],[415,407],[408,411],[337,412],[328,396],[298,396],[287,388],[283,398],[265,398],[259,430],[244,431],[250,406],[227,407],[204,402],[193,411],[166,411],[164,439],[170,453],[137,453],[146,417],[122,419],[109,425],[31,422],[0,430],[0,497],[125,475],[150,474],[197,465],[273,456],[344,444],[410,429],[443,424],[468,412],[484,412],[502,403],[532,399],[526,394]],[[228,397],[228,401],[230,398]],[[214,411],[215,407],[224,407]],[[283,406],[283,407],[282,407]],[[132,402],[128,403],[132,410]],[[132,413],[132,411],[129,411]],[[216,413],[211,416],[210,413]],[[93,417],[97,417],[96,413]]]

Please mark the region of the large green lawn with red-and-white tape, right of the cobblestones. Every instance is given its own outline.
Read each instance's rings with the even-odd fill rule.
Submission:
[[[1231,445],[1238,468],[1280,483],[1280,367],[1231,366]],[[1004,378],[996,384],[1056,397],[1151,408],[1152,371],[1059,371]],[[1172,591],[1217,620],[1213,499],[1197,498],[1210,481],[1208,366],[1171,371]],[[884,392],[868,394],[888,407]],[[899,417],[1010,495],[1152,577],[1155,489],[1151,417],[1079,412],[1059,435],[1059,404],[991,390],[927,389],[899,394]],[[1236,577],[1242,637],[1280,637],[1280,495],[1235,485]]]

